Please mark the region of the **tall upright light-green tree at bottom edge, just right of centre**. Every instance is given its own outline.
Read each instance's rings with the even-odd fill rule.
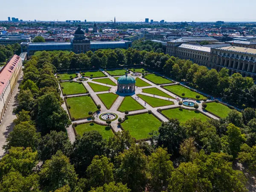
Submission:
[[[170,156],[166,149],[159,147],[148,157],[148,167],[151,174],[149,183],[152,191],[161,192],[166,186],[167,179],[174,169]]]

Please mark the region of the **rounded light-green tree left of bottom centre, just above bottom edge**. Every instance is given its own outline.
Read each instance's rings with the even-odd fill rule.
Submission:
[[[105,183],[110,183],[114,180],[113,177],[113,163],[105,156],[93,157],[92,163],[86,170],[88,185],[90,187],[103,186]]]

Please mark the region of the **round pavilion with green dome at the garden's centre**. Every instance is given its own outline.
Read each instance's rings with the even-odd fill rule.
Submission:
[[[135,79],[126,73],[125,76],[117,79],[117,91],[120,93],[132,93],[135,91],[135,83]]]

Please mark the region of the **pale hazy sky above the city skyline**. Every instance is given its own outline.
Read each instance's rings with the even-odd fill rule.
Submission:
[[[256,0],[1,0],[0,20],[256,21]]]

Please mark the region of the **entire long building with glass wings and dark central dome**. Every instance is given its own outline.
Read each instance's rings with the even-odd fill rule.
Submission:
[[[75,53],[82,53],[87,51],[96,51],[98,49],[128,49],[131,47],[131,41],[103,41],[103,42],[90,42],[84,35],[84,30],[79,25],[75,31],[74,38],[71,42],[63,43],[31,43],[23,42],[20,44],[21,52],[27,52],[28,55],[33,55],[36,51],[73,51]]]

